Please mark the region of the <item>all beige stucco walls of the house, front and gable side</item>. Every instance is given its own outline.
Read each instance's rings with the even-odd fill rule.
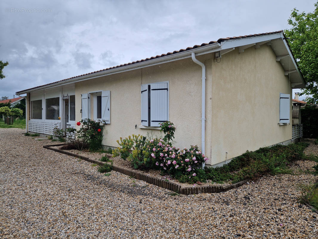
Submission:
[[[291,88],[270,46],[250,47],[243,53],[235,49],[219,63],[213,61],[214,54],[197,58],[206,65],[208,164],[225,161],[225,152],[231,159],[291,139],[291,124],[278,125],[279,94],[291,94]],[[159,136],[159,130],[139,128],[141,84],[162,81],[169,81],[175,146],[201,147],[201,67],[190,58],[76,83],[76,121],[81,120],[82,93],[110,90],[111,123],[105,125],[103,145],[117,147],[116,140],[131,134]]]

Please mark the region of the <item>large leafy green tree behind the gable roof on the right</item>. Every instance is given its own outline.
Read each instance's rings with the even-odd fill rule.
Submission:
[[[313,95],[309,104],[318,104],[318,1],[313,12],[305,13],[294,8],[285,30],[289,46],[306,81],[299,95]]]

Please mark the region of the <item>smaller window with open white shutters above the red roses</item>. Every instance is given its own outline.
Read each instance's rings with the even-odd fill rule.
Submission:
[[[82,120],[89,118],[90,94],[82,94]],[[93,119],[110,124],[110,91],[93,94]]]

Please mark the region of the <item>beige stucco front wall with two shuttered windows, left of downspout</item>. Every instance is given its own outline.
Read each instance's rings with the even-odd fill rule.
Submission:
[[[205,56],[205,58],[211,56]],[[204,60],[203,57],[200,59]],[[210,60],[210,68],[211,62]],[[109,90],[111,123],[104,127],[103,145],[118,147],[116,140],[131,134],[147,135],[149,133],[159,136],[159,130],[139,128],[141,84],[162,81],[169,81],[169,120],[176,126],[174,145],[180,148],[189,148],[190,144],[200,146],[201,67],[193,63],[190,58],[76,83],[76,121],[81,120],[82,93]],[[92,115],[93,107],[91,107]]]

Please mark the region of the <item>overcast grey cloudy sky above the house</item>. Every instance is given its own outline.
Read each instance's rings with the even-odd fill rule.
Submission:
[[[293,8],[311,12],[315,2],[2,0],[0,60],[9,66],[0,96],[222,37],[288,29]]]

